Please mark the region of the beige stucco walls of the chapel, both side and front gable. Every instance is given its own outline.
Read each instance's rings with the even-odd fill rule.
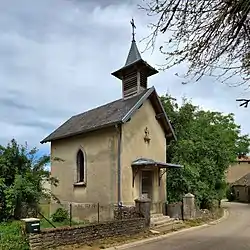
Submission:
[[[145,143],[145,128],[149,130],[150,143]],[[59,179],[58,187],[52,192],[62,201],[76,203],[116,203],[117,202],[117,141],[115,128],[89,133],[51,143],[51,156],[61,158],[52,161],[51,174]],[[74,187],[76,182],[76,154],[81,148],[86,158],[86,187]],[[151,102],[146,101],[122,126],[121,145],[121,195],[124,205],[133,205],[141,191],[141,175],[137,174],[132,187],[132,161],[150,158],[165,162],[165,134],[155,118]],[[166,174],[161,186],[158,184],[158,169],[154,170],[153,202],[165,201]]]

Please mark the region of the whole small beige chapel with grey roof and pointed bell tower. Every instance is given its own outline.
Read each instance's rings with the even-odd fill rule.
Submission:
[[[163,212],[166,170],[180,166],[167,163],[167,144],[176,136],[155,88],[148,87],[157,73],[133,35],[125,65],[112,73],[121,82],[121,99],[72,116],[41,141],[51,143],[51,175],[59,180],[52,192],[62,203],[130,206],[147,196],[151,212]]]

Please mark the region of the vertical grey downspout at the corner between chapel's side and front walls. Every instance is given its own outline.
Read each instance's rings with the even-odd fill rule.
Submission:
[[[122,142],[122,125],[115,125],[118,132],[117,140],[117,202],[118,206],[122,205],[121,201],[121,142]]]

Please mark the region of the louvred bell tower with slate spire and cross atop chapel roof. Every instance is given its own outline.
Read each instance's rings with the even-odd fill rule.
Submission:
[[[122,80],[122,96],[129,98],[140,94],[148,88],[148,77],[158,71],[141,58],[135,41],[135,23],[132,25],[132,44],[125,65],[112,73],[113,76]]]

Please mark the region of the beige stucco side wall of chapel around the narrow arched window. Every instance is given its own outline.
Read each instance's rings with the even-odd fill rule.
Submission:
[[[76,155],[85,153],[86,187],[75,187]],[[78,203],[113,203],[117,200],[117,132],[115,128],[100,130],[51,143],[51,175],[59,179],[53,193],[62,201]]]

